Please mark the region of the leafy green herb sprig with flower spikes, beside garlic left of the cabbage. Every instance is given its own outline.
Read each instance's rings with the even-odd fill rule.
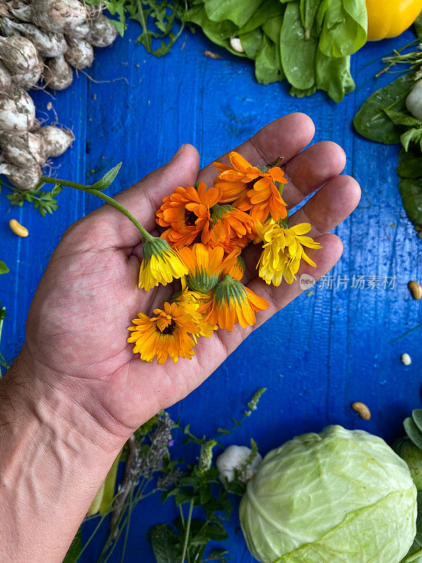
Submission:
[[[227,563],[228,552],[224,548],[210,548],[211,541],[224,541],[229,537],[224,519],[229,519],[233,510],[233,500],[229,493],[243,495],[245,484],[241,481],[248,466],[257,455],[257,445],[251,440],[252,451],[241,471],[235,472],[234,481],[222,483],[219,472],[212,465],[212,453],[219,445],[222,436],[231,434],[256,410],[258,401],[265,388],[259,389],[248,403],[248,410],[243,412],[240,421],[232,419],[231,429],[217,429],[215,438],[198,438],[190,430],[190,424],[184,427],[186,435],[183,443],[200,445],[199,459],[196,464],[187,465],[176,485],[162,494],[162,502],[169,499],[179,510],[180,516],[172,526],[156,524],[151,529],[151,544],[157,563],[204,563],[219,561]]]

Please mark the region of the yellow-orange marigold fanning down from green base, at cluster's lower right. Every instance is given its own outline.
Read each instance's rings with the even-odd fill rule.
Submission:
[[[205,315],[205,321],[217,324],[220,329],[232,331],[235,324],[244,329],[255,324],[255,311],[268,309],[269,303],[257,296],[241,281],[226,274],[224,279],[215,286],[212,298],[198,309]]]

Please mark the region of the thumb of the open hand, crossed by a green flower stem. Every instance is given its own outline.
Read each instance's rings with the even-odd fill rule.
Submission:
[[[155,227],[155,213],[162,203],[162,198],[172,194],[177,186],[194,186],[198,169],[198,151],[190,144],[183,144],[169,163],[117,194],[115,200],[150,231]],[[101,222],[106,222],[110,245],[135,246],[141,240],[141,233],[134,224],[110,205],[103,205],[91,215],[96,215]]]

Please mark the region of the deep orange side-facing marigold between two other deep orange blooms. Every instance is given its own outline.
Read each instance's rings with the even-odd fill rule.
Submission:
[[[255,237],[252,217],[232,205],[214,205],[211,218],[210,226],[205,226],[201,234],[201,240],[210,248],[222,246],[226,253],[231,253],[234,248],[245,247]]]

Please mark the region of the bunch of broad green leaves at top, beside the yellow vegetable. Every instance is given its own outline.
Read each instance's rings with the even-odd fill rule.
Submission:
[[[262,84],[286,79],[292,96],[323,89],[335,101],[354,89],[349,55],[366,42],[364,0],[196,0],[184,19],[254,59]],[[230,37],[241,39],[243,53]]]

